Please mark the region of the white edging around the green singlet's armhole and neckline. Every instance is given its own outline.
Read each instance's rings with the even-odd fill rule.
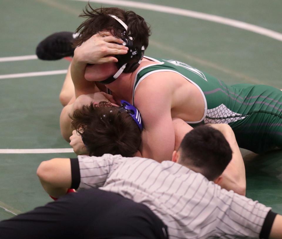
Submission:
[[[155,65],[162,65],[162,64],[164,64],[164,62],[158,61],[158,60],[156,60],[156,59],[154,59],[154,58],[147,57],[147,56],[146,56],[146,58],[148,58],[148,59],[150,59],[150,60],[153,60],[153,61],[157,61],[157,62],[159,62],[159,63],[157,63],[157,64],[152,64],[152,65],[148,65],[148,66],[144,66],[144,67],[140,68],[140,70],[139,70],[139,71],[136,73],[136,75],[135,75],[135,80],[134,80],[134,85],[133,85],[133,86],[135,86],[135,83],[136,83],[136,81],[137,81],[137,75],[138,75],[138,73],[139,73],[141,70],[143,70],[144,68],[147,68],[147,67],[149,67],[149,66],[155,66]],[[201,121],[203,121],[204,118],[207,116],[207,109],[208,109],[208,107],[207,107],[207,100],[206,100],[206,97],[205,97],[205,95],[204,95],[204,92],[202,91],[202,89],[201,89],[194,81],[190,80],[189,78],[187,78],[186,76],[182,75],[182,74],[179,73],[178,71],[173,71],[173,70],[169,70],[169,69],[167,69],[167,70],[166,70],[166,69],[163,69],[163,70],[155,70],[155,71],[150,71],[150,72],[148,72],[147,74],[145,74],[144,76],[142,76],[142,77],[140,78],[140,80],[138,81],[137,85],[135,86],[135,88],[133,88],[132,104],[134,105],[135,90],[136,90],[137,86],[139,85],[139,83],[140,83],[142,80],[144,80],[147,76],[150,76],[150,75],[153,74],[153,73],[162,72],[162,71],[170,71],[170,72],[177,73],[177,74],[179,74],[180,76],[184,77],[187,81],[189,81],[190,83],[192,83],[194,86],[196,86],[196,87],[198,88],[198,90],[200,91],[200,93],[202,94],[202,97],[203,97],[203,99],[204,99],[204,104],[205,104],[204,115],[203,115],[203,117],[202,117],[199,121],[194,121],[194,122],[185,121],[185,122],[186,122],[186,123],[191,123],[191,124],[196,124],[196,123],[200,123]]]

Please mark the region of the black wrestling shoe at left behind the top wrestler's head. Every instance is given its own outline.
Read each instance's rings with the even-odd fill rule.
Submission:
[[[72,43],[75,35],[69,31],[56,32],[43,41],[36,47],[36,55],[41,60],[58,60],[66,56],[73,56],[74,48]]]

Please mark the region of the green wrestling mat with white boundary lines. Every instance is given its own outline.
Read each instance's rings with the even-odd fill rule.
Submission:
[[[282,1],[140,2],[143,5],[138,9],[121,7],[136,11],[151,24],[147,56],[178,59],[228,84],[258,83],[282,88]],[[161,12],[160,6],[146,8],[146,3],[178,10],[170,8],[174,14]],[[1,1],[0,220],[51,200],[36,176],[41,161],[75,156],[64,153],[66,148],[70,152],[70,146],[59,129],[62,106],[58,95],[64,80],[62,70],[67,69],[68,62],[39,61],[34,54],[36,45],[46,36],[56,31],[74,31],[82,21],[78,15],[85,5],[86,2],[71,0]],[[102,3],[91,5],[99,7]],[[188,15],[181,15],[179,9],[196,11],[198,18],[189,17],[189,11],[185,12]],[[224,19],[199,19],[201,14],[252,25],[243,24],[249,28],[239,29],[226,25]],[[271,30],[269,35],[262,35],[258,26]],[[18,149],[31,151],[18,153]],[[55,153],[48,153],[51,150]],[[243,151],[243,155],[247,196],[282,214],[282,151],[259,156]]]

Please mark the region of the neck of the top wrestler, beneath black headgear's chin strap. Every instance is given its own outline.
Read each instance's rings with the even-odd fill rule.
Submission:
[[[137,72],[144,66],[153,64],[147,58],[143,58],[138,68],[131,73],[122,73],[115,81],[108,84],[107,87],[113,92],[113,95],[118,100],[126,100],[132,103],[132,92]]]

